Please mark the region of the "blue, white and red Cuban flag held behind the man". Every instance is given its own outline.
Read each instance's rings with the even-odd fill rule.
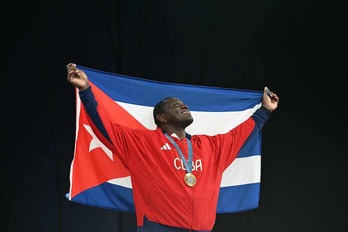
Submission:
[[[131,128],[155,129],[152,110],[164,97],[185,102],[194,118],[187,132],[225,133],[261,106],[262,92],[146,80],[78,67],[87,74],[99,105]],[[76,134],[67,198],[89,206],[135,212],[131,176],[117,155],[93,132],[76,89]],[[249,138],[225,170],[217,213],[258,207],[261,180],[261,132]]]

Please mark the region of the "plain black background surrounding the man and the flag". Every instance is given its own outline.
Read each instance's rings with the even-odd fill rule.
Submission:
[[[2,231],[136,230],[134,214],[65,198],[75,137],[69,62],[167,82],[270,87],[280,103],[263,130],[259,208],[218,214],[214,232],[347,231],[344,3],[2,2]]]

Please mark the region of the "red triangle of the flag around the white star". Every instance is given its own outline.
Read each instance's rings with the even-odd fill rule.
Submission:
[[[103,113],[111,115],[111,120],[130,128],[145,128],[130,113],[123,109],[117,102],[112,100],[108,95],[101,91],[97,86],[90,82],[92,91],[98,101],[98,107],[103,108]],[[79,96],[76,95],[78,98]],[[79,99],[77,99],[79,100]],[[90,189],[92,187],[103,184],[104,182],[129,176],[128,169],[123,165],[122,161],[109,150],[108,155],[103,146],[96,146],[91,149],[91,143],[96,140],[95,134],[100,134],[91,122],[84,106],[77,104],[76,112],[79,113],[77,119],[77,133],[75,141],[75,154],[72,162],[72,186],[70,197],[73,198],[77,194]],[[94,128],[93,133],[88,128]],[[106,128],[107,130],[110,128]],[[95,133],[95,134],[94,134]],[[102,140],[102,141],[101,141]],[[110,143],[106,139],[98,140],[100,143],[111,148]]]

